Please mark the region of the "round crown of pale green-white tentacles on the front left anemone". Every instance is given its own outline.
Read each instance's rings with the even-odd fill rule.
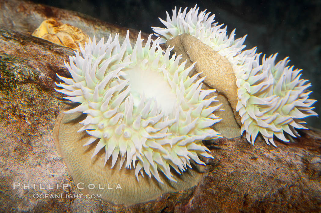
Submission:
[[[105,44],[94,37],[69,57],[72,78],[58,75],[65,83],[56,90],[81,103],[67,113],[88,114],[79,131],[91,135],[84,145],[98,141],[92,156],[105,148],[105,164],[112,156],[113,167],[120,153],[120,168],[126,160],[137,180],[144,170],[163,183],[158,170],[176,181],[169,166],[180,173],[190,162],[204,164],[198,155],[212,156],[202,140],[221,136],[210,128],[220,120],[212,113],[220,105],[209,107],[215,97],[205,99],[215,90],[202,90],[204,78],[194,82],[199,74],[188,77],[193,66],[185,69],[181,57],[170,58],[172,48],[164,52],[159,43],[150,46],[150,35],[143,47],[139,34],[132,48],[128,31],[122,45],[117,34]]]

